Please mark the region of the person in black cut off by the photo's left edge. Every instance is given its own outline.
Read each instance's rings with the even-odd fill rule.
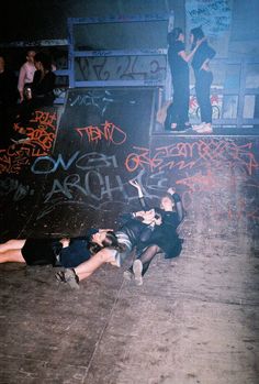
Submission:
[[[5,66],[5,59],[0,55],[0,143],[1,147],[9,144],[12,132],[12,121],[18,102],[16,76]]]

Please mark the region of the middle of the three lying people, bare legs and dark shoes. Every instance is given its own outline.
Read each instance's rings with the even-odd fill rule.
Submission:
[[[89,277],[104,263],[121,266],[138,242],[146,243],[155,226],[161,223],[155,218],[155,209],[133,215],[117,231],[103,231],[91,237],[91,259],[75,268],[65,268],[56,273],[58,282],[68,283],[71,288],[79,288],[79,282]],[[140,218],[140,220],[139,220]]]

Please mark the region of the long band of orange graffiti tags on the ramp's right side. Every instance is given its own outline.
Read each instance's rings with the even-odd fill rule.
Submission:
[[[125,160],[125,167],[131,173],[138,168],[154,172],[165,168],[191,169],[205,163],[214,169],[221,169],[223,166],[239,167],[251,175],[259,167],[251,149],[252,143],[238,145],[234,141],[222,139],[173,143],[155,149],[153,155],[149,149],[134,146],[134,152]]]

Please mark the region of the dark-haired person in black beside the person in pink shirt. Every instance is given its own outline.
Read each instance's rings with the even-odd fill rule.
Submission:
[[[32,118],[33,112],[38,108],[52,107],[55,100],[54,88],[56,75],[52,70],[52,59],[43,52],[34,56],[33,83],[25,87],[25,98],[20,105],[16,122],[21,127],[16,139],[25,139],[26,124]]]

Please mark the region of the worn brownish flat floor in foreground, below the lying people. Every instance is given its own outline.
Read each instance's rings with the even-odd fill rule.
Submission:
[[[0,266],[1,384],[258,384],[259,241],[184,222],[142,287],[104,265],[79,290]]]

